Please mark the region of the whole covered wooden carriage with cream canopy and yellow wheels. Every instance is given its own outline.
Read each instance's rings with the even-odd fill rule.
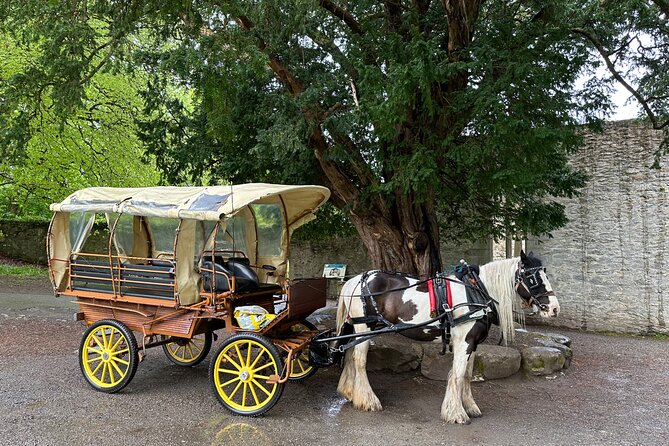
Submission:
[[[323,278],[290,279],[290,237],[329,198],[320,186],[88,188],[54,211],[47,237],[56,296],[88,324],[79,365],[96,390],[133,378],[146,350],[194,366],[226,333],[209,365],[218,401],[256,416],[288,380],[315,372]],[[135,335],[137,334],[137,336]]]

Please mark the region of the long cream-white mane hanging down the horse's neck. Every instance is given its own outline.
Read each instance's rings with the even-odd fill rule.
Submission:
[[[520,300],[516,294],[514,283],[519,262],[520,257],[495,260],[481,265],[481,273],[479,274],[483,284],[488,289],[490,297],[499,303],[497,310],[504,343],[514,339],[514,310],[517,315],[515,320],[525,324],[525,314],[520,307]]]

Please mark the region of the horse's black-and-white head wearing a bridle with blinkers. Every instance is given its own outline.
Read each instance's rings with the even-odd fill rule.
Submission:
[[[520,252],[520,264],[516,272],[516,292],[528,306],[538,311],[541,317],[556,317],[560,304],[548,281],[546,268],[533,253]]]

